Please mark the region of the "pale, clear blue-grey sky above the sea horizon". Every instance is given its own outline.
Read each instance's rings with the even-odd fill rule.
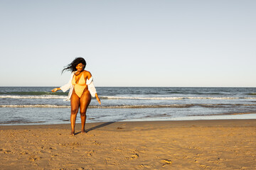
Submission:
[[[0,0],[0,86],[256,87],[256,1]]]

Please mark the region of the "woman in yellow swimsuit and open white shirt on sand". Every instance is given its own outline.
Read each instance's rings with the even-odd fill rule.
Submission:
[[[71,134],[75,135],[75,120],[78,114],[78,109],[80,108],[80,117],[81,117],[81,132],[85,132],[85,120],[86,120],[86,110],[90,104],[91,96],[96,97],[97,101],[101,104],[100,98],[97,95],[95,86],[92,80],[92,74],[85,70],[86,62],[82,57],[75,58],[73,62],[68,64],[67,67],[63,69],[71,71],[70,81],[68,84],[61,86],[60,88],[55,88],[52,91],[62,90],[63,92],[70,89],[68,98],[66,101],[70,100],[71,104]]]

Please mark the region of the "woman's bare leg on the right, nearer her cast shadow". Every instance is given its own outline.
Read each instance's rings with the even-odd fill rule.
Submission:
[[[80,97],[80,116],[81,116],[81,132],[85,132],[85,120],[86,120],[86,111],[91,101],[91,95],[88,90],[85,90]]]

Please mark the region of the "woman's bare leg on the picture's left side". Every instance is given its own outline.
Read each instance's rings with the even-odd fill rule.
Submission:
[[[75,90],[73,90],[72,96],[70,98],[71,104],[71,114],[70,114],[70,123],[71,123],[71,135],[75,135],[75,120],[78,115],[80,98],[77,94],[75,94]]]

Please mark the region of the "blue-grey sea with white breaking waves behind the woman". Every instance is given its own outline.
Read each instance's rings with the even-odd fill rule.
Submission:
[[[0,125],[70,123],[68,92],[53,88],[1,86]],[[97,87],[97,94],[102,104],[92,98],[87,123],[256,118],[256,88]]]

